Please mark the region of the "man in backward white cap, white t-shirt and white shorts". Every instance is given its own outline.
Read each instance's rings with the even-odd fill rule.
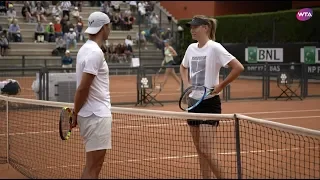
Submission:
[[[100,48],[110,33],[109,17],[93,12],[85,33],[89,34],[89,39],[77,54],[73,126],[79,124],[86,150],[81,178],[98,179],[106,150],[111,149],[109,69]]]

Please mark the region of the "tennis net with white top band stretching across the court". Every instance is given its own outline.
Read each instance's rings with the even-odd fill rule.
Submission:
[[[29,178],[80,177],[85,153],[79,131],[68,141],[58,131],[61,108],[72,104],[4,96],[0,103],[2,160]],[[224,178],[320,178],[319,131],[238,114],[116,107],[112,114],[112,150],[100,178],[201,178],[190,118],[220,120],[217,128],[200,126],[199,144]]]

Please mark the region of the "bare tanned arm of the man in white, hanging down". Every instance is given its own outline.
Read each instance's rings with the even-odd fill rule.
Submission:
[[[90,90],[90,86],[95,75],[89,73],[83,73],[79,87],[76,90],[74,96],[74,113],[78,114],[83,104],[86,102]]]

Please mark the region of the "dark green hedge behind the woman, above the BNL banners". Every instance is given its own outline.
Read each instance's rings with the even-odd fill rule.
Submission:
[[[305,22],[296,19],[298,10],[227,15],[215,17],[218,21],[216,41],[220,43],[294,43],[320,41],[320,8],[313,8],[313,17]],[[184,28],[181,51],[193,42],[186,23],[179,21]],[[275,31],[274,31],[275,30]],[[275,32],[275,33],[274,33]],[[274,38],[274,41],[273,41]]]

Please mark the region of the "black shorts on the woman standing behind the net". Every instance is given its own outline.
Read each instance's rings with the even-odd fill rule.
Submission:
[[[191,109],[188,112],[221,114],[220,96],[214,96],[212,98],[203,100],[198,106],[196,106],[194,109]],[[200,124],[209,124],[213,126],[219,126],[219,120],[188,119],[187,123],[189,126],[200,126]]]

